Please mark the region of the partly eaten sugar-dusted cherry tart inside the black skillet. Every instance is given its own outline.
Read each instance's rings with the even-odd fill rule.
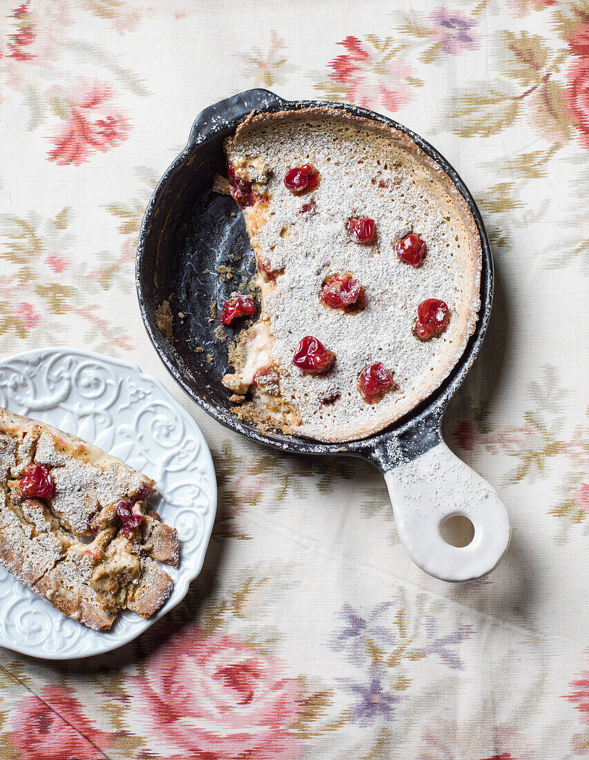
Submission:
[[[225,152],[214,189],[242,211],[261,295],[223,378],[234,411],[325,442],[394,423],[477,324],[482,253],[466,201],[403,132],[327,106],[252,113]]]

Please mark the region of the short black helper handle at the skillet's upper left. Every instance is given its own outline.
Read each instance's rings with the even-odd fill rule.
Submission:
[[[192,147],[204,141],[212,132],[223,128],[235,119],[245,119],[251,111],[271,109],[273,106],[283,108],[288,105],[288,100],[275,95],[270,90],[244,90],[231,97],[213,103],[202,110],[195,119],[188,138],[186,147]]]

